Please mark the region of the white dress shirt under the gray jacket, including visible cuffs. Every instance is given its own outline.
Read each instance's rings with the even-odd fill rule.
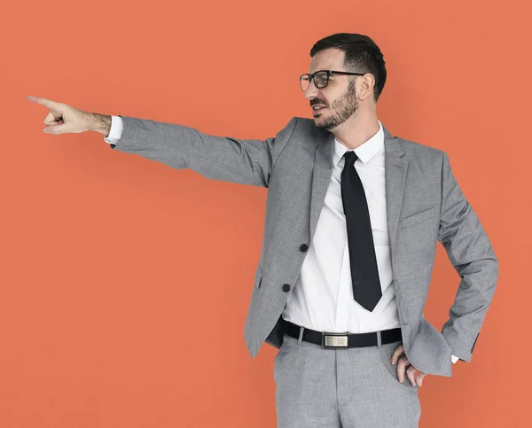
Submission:
[[[112,116],[106,143],[118,144],[123,123]],[[354,149],[354,167],[364,186],[372,223],[382,297],[372,312],[353,298],[349,263],[348,229],[341,201],[340,175],[348,148],[334,138],[331,182],[317,222],[316,232],[301,266],[283,318],[303,327],[328,332],[364,333],[400,327],[387,231],[384,130]],[[452,355],[452,362],[458,357]]]

